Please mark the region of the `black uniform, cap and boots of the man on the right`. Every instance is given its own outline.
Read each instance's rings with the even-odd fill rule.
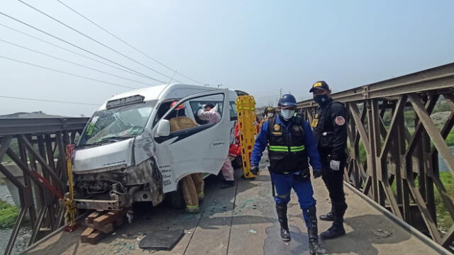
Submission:
[[[328,89],[328,84],[323,84],[323,86]],[[331,212],[321,215],[320,219],[334,221],[333,227],[321,233],[321,237],[325,239],[345,234],[345,229],[343,229],[343,215],[347,209],[343,191],[343,170],[347,159],[345,115],[345,106],[327,97],[326,101],[319,103],[319,108],[311,123],[321,159],[321,177],[331,198]],[[338,163],[338,170],[332,169],[333,162]]]

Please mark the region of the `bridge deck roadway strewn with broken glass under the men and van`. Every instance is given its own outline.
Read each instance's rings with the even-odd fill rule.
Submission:
[[[237,171],[239,174],[239,171]],[[309,254],[307,231],[301,219],[297,197],[289,203],[292,242],[279,239],[279,228],[272,201],[270,176],[263,171],[255,181],[239,179],[237,186],[220,189],[216,178],[206,182],[206,198],[199,215],[183,214],[162,204],[138,208],[132,225],[123,225],[100,244],[79,243],[77,232],[61,232],[41,242],[25,254],[148,254],[138,248],[138,235],[154,229],[185,229],[184,237],[172,251],[153,254]],[[323,181],[314,181],[318,214],[331,205]],[[382,215],[360,196],[346,189],[347,234],[323,241],[331,254],[438,254],[430,246]],[[319,221],[319,232],[330,222]],[[389,234],[389,236],[387,236]]]

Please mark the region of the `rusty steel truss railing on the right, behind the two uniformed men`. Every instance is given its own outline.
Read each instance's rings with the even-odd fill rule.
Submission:
[[[438,224],[443,210],[443,220],[454,220],[438,154],[454,175],[453,152],[445,142],[454,125],[454,63],[332,97],[348,111],[345,181],[452,251],[454,225]],[[311,122],[316,103],[298,106]],[[435,114],[440,108],[443,114]]]

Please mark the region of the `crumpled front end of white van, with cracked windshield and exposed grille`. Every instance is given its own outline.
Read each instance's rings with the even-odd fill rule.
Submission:
[[[138,201],[157,205],[164,198],[153,140],[145,130],[155,102],[140,99],[111,107],[107,102],[84,129],[73,155],[77,208],[121,210]]]

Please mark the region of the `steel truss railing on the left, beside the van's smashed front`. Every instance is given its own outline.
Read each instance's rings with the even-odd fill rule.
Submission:
[[[11,254],[23,225],[31,227],[31,245],[65,224],[65,207],[55,192],[67,191],[65,147],[74,142],[88,120],[0,118],[0,174],[16,188],[11,193],[17,194],[21,207],[5,254]]]

